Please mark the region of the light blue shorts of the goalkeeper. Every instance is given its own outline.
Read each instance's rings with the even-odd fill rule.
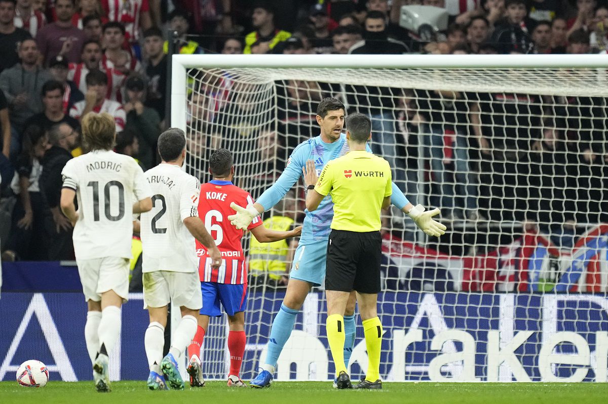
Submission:
[[[295,250],[294,263],[289,278],[321,286],[325,279],[327,241],[318,240],[310,244],[299,244]]]

